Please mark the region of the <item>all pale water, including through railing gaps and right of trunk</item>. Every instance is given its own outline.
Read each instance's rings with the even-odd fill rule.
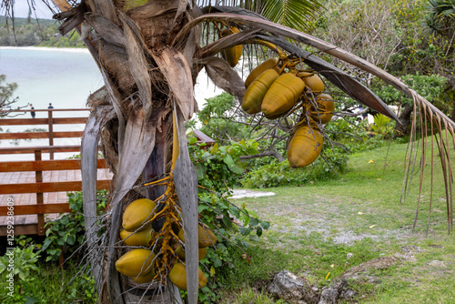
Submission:
[[[45,47],[0,47],[0,74],[5,74],[6,83],[17,83],[14,96],[15,106],[32,104],[35,109],[46,109],[49,103],[54,108],[86,108],[87,97],[101,86],[103,78],[92,56],[85,49],[61,49]],[[207,78],[200,73],[197,77],[195,97],[199,108],[205,99],[221,94]],[[13,106],[13,107],[15,107]],[[87,112],[54,112],[54,117],[88,116]],[[24,117],[30,117],[26,113]],[[36,112],[36,118],[47,117],[46,112]],[[4,132],[22,132],[29,127],[45,126],[8,126],[0,127]],[[84,130],[84,125],[56,125],[55,131]],[[0,147],[46,146],[45,139],[20,140],[14,143],[0,140]],[[56,138],[54,145],[79,145],[80,138]],[[0,155],[1,160],[30,159],[30,155]],[[56,154],[56,158],[68,157]]]

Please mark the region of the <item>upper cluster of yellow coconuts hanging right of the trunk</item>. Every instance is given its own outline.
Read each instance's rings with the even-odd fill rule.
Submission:
[[[284,73],[279,63],[278,58],[271,58],[251,71],[245,81],[242,109],[249,115],[262,112],[268,119],[277,119],[299,101],[304,103],[310,121],[304,118],[295,127],[288,138],[287,154],[291,167],[306,167],[319,157],[323,137],[318,124],[329,123],[335,104],[331,96],[322,94],[324,82],[317,74],[298,70]]]

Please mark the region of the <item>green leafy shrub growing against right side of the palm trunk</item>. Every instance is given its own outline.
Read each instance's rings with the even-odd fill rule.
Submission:
[[[208,280],[207,286],[199,290],[201,302],[213,303],[219,300],[217,289],[223,286],[223,279],[233,271],[238,248],[248,248],[248,241],[258,241],[263,229],[270,225],[245,204],[236,206],[227,200],[229,188],[238,184],[247,166],[240,157],[257,154],[258,143],[241,140],[228,146],[207,147],[194,145],[196,138],[191,138],[190,143],[199,184],[199,216],[217,235],[217,243],[207,248],[206,258],[201,260]]]

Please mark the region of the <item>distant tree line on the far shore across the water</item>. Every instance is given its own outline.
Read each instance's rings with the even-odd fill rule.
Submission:
[[[6,22],[7,21],[7,22]],[[76,31],[60,35],[54,20],[0,16],[0,46],[85,47]]]

